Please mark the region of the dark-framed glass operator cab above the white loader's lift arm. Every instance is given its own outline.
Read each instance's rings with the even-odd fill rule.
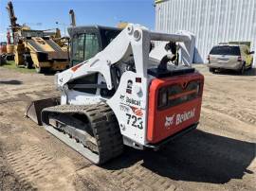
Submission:
[[[121,28],[109,26],[75,26],[67,28],[71,38],[70,66],[86,61],[101,52]]]

